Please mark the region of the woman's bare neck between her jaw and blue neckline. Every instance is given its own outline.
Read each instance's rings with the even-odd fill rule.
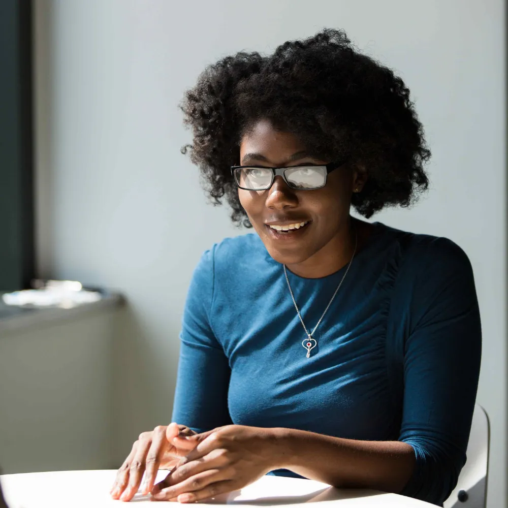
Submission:
[[[364,236],[361,234],[364,224],[366,223],[348,216],[344,226],[320,250],[301,263],[286,266],[296,275],[309,279],[337,272],[351,261],[357,234],[358,246],[360,245],[361,237]]]

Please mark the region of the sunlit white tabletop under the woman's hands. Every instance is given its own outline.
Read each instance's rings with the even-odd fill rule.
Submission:
[[[157,481],[167,471],[161,470]],[[4,474],[0,482],[9,508],[112,508],[128,506],[123,501],[111,499],[109,490],[116,471],[53,471],[41,473]],[[136,494],[131,502],[136,508],[151,503],[152,508],[160,505],[184,506],[169,501],[152,504],[149,496]],[[265,476],[240,491],[223,494],[202,501],[204,506],[237,504],[247,506],[295,506],[300,503],[316,503],[319,508],[360,508],[382,506],[397,508],[430,508],[433,504],[397,494],[386,494],[373,490],[340,490],[324,483],[295,478]],[[309,508],[311,508],[309,506]],[[315,507],[317,508],[317,506]],[[434,506],[435,508],[435,506]]]

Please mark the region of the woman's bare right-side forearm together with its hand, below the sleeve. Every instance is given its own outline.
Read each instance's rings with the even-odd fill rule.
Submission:
[[[195,448],[154,487],[155,499],[206,499],[241,489],[282,467],[336,487],[398,492],[415,462],[406,443],[340,439],[285,428],[228,425],[177,439],[193,442]]]

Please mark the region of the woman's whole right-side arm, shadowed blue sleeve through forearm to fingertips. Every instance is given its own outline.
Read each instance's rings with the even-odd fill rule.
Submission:
[[[157,498],[187,493],[186,500],[205,499],[286,468],[337,487],[442,503],[465,461],[480,368],[480,318],[465,254],[450,241],[435,240],[420,257],[399,274],[399,303],[392,306],[405,337],[398,441],[227,426],[186,438],[197,446]],[[200,477],[205,470],[210,474]]]

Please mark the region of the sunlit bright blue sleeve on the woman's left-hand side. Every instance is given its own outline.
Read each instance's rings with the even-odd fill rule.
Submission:
[[[214,285],[213,249],[207,250],[187,293],[171,420],[204,432],[232,423],[228,410],[231,370],[210,325]]]

